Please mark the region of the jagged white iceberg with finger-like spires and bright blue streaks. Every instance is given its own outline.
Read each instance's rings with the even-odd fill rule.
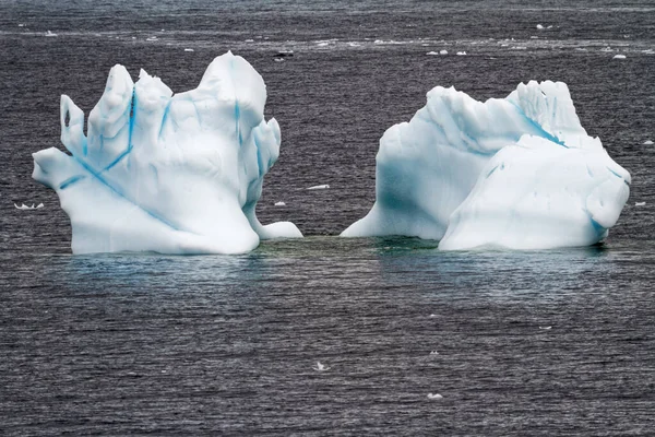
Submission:
[[[241,57],[214,59],[195,90],[172,95],[141,70],[109,72],[88,117],[61,96],[61,141],[35,153],[33,177],[59,194],[74,253],[239,253],[260,238],[301,237],[289,222],[262,226],[255,204],[279,154],[263,117],[266,87]]]

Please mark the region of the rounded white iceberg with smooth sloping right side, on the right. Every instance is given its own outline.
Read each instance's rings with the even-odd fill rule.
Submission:
[[[477,102],[436,87],[377,156],[376,203],[345,237],[406,235],[440,249],[546,249],[600,241],[630,174],[580,125],[564,83],[531,81]]]

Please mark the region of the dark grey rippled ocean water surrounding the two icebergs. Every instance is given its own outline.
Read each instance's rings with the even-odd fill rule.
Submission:
[[[468,55],[425,55],[442,48]],[[186,91],[228,49],[283,133],[259,216],[308,238],[71,256],[57,196],[31,179],[31,153],[61,147],[60,94],[91,110],[115,63]],[[655,435],[653,51],[653,1],[0,0],[0,435]],[[427,91],[531,79],[567,82],[632,174],[604,245],[335,237],[372,205],[380,137]]]

